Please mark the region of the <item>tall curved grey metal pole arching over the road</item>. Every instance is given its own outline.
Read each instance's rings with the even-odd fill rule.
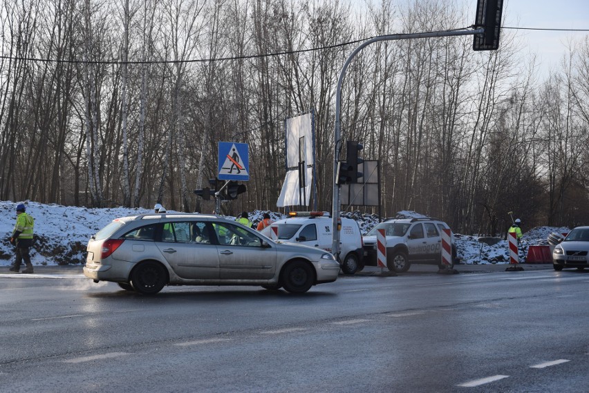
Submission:
[[[380,37],[375,37],[372,39],[368,39],[368,41],[364,41],[360,46],[358,46],[346,59],[344,66],[342,67],[342,71],[339,73],[339,79],[337,79],[337,88],[335,90],[335,132],[334,132],[334,152],[333,152],[333,214],[332,214],[332,244],[331,250],[332,253],[336,256],[339,260],[339,231],[340,228],[338,227],[339,223],[339,209],[341,207],[339,202],[339,183],[337,181],[337,163],[339,162],[339,153],[342,150],[342,137],[341,131],[339,126],[339,113],[341,111],[341,103],[342,103],[342,84],[344,82],[344,77],[346,76],[346,70],[350,65],[350,62],[358,54],[358,52],[366,46],[373,44],[374,42],[378,41],[398,41],[400,39],[413,39],[413,38],[431,38],[431,37],[452,37],[452,36],[459,36],[459,35],[476,35],[476,34],[483,34],[485,32],[484,28],[476,28],[474,30],[457,30],[457,31],[440,31],[440,32],[418,32],[413,34],[392,34],[392,35],[382,35]],[[379,196],[380,198],[380,196]]]

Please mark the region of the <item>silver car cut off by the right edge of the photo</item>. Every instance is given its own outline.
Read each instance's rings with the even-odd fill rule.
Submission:
[[[589,267],[589,227],[577,227],[554,247],[552,251],[552,266],[554,270],[565,267],[576,267],[583,270]]]

